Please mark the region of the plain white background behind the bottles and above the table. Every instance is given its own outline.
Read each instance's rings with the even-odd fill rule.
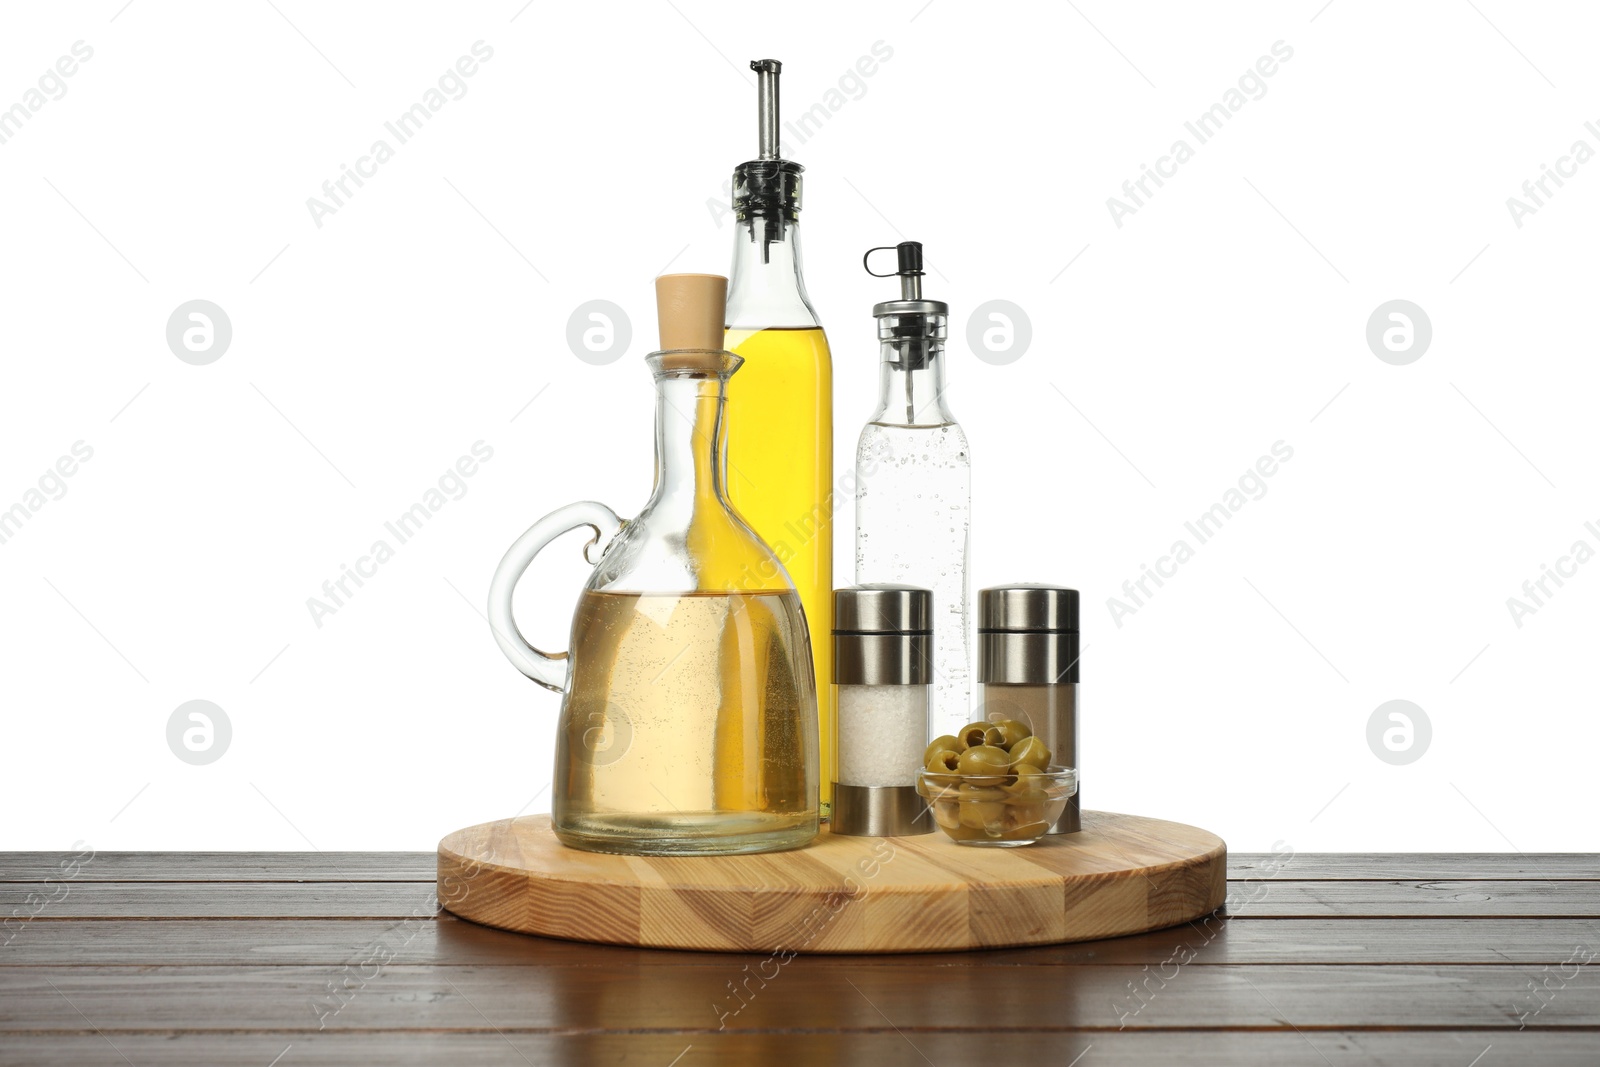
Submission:
[[[1522,627],[1506,606],[1600,547],[1600,163],[1522,227],[1506,206],[1600,147],[1595,13],[275,2],[5,16],[0,107],[94,54],[0,146],[0,507],[94,456],[0,545],[0,848],[427,849],[547,809],[557,697],[494,648],[490,574],[560,504],[645,499],[651,278],[726,269],[707,202],[754,155],[747,61],[784,61],[794,118],[875,42],[790,144],[837,451],[888,296],[859,256],[923,240],[973,587],[1083,590],[1088,806],[1235,849],[1600,848],[1600,565]],[[315,226],[307,197],[478,40],[466,96]],[[1267,93],[1195,146],[1184,122],[1280,40]],[[1178,138],[1195,157],[1115,226],[1107,197]],[[234,326],[208,366],[165,339],[197,298]],[[1434,326],[1408,366],[1365,341],[1397,298]],[[589,299],[634,323],[608,366],[566,346]],[[965,341],[989,299],[1032,322],[1005,366]],[[307,597],[478,440],[467,494],[318,629]],[[1107,597],[1278,440],[1267,494],[1117,627]],[[582,576],[573,537],[525,581],[538,643]],[[208,766],[166,745],[190,699],[232,721]],[[1432,721],[1406,766],[1366,744],[1389,699]]]

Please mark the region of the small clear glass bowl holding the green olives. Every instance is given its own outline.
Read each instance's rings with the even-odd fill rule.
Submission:
[[[1074,768],[1042,774],[946,774],[920,771],[917,792],[957,845],[1018,848],[1045,837],[1078,792]]]

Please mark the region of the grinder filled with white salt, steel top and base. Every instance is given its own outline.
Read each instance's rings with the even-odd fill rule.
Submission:
[[[933,593],[914,585],[834,590],[830,833],[933,832],[917,793],[933,693]]]

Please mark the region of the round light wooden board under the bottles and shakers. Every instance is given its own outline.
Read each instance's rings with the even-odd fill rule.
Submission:
[[[566,848],[549,816],[438,843],[438,899],[546,937],[710,952],[938,952],[1117,937],[1222,905],[1227,846],[1179,822],[1085,811],[1027,848],[942,833],[834,837],[758,856]]]

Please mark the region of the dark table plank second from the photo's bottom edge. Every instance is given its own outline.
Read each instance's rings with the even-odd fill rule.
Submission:
[[[902,1029],[934,1032],[1238,1030],[1270,1029],[1285,1019],[1302,1030],[1394,1029],[1416,1019],[1454,1029],[1517,1029],[1518,998],[1528,998],[1528,976],[1514,966],[1174,963],[1165,968],[1170,977],[1160,977],[1162,968],[1106,963],[930,973],[838,966],[834,957],[795,957],[763,968],[763,958],[542,973],[502,965],[448,971],[374,965],[352,966],[347,974],[320,966],[0,968],[0,1032],[80,1030],[85,1017],[107,1032],[285,1030],[307,1021],[310,1029],[320,1022],[334,1030],[472,1030],[485,1019],[502,1030],[587,1032],[624,1024],[635,1030],[771,1032],[808,1019],[861,1032],[883,1027],[885,1017]],[[330,979],[336,981],[333,990]],[[530,997],[533,989],[538,997]],[[1570,981],[1538,1021],[1594,1029],[1600,1024],[1600,982]]]

